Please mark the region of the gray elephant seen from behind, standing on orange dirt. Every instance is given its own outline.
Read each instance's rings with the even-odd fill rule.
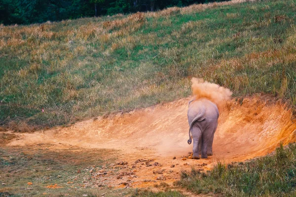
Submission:
[[[189,139],[193,138],[193,159],[206,159],[213,155],[212,145],[217,129],[219,111],[215,103],[208,99],[193,99],[188,103]]]

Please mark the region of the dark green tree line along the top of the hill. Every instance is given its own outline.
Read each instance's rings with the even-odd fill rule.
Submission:
[[[161,10],[222,0],[0,0],[0,24],[32,24],[80,17]]]

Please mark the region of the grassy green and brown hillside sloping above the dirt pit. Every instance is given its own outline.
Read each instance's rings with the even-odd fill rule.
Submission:
[[[296,104],[295,2],[1,26],[0,124],[26,131],[146,107],[189,96],[192,76]]]

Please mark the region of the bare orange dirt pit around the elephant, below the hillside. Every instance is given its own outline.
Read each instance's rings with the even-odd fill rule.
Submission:
[[[180,178],[181,170],[190,171],[192,166],[206,171],[217,161],[245,161],[274,151],[280,143],[296,140],[292,112],[282,103],[262,97],[232,99],[220,111],[214,155],[188,159],[188,152],[192,152],[192,144],[187,144],[188,100],[98,117],[68,128],[21,133],[7,146],[54,144],[48,149],[73,146],[83,151],[115,150],[112,158],[116,162],[91,170],[90,177],[98,187],[141,188],[159,182],[172,185]]]

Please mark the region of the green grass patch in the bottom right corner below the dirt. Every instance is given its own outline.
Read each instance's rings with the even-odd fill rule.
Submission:
[[[296,144],[281,145],[270,154],[245,163],[218,162],[207,174],[192,171],[177,185],[194,193],[223,196],[294,196]]]

